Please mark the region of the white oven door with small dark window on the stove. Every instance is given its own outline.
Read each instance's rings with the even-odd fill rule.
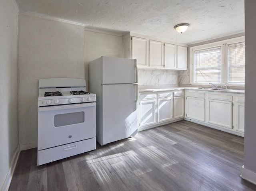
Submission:
[[[96,137],[96,102],[38,108],[38,150]]]

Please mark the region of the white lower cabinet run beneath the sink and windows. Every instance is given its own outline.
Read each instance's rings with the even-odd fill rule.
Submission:
[[[244,136],[244,95],[185,90],[186,120]]]

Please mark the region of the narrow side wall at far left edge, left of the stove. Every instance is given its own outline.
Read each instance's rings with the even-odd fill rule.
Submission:
[[[0,6],[0,190],[18,145],[17,11],[13,0]]]

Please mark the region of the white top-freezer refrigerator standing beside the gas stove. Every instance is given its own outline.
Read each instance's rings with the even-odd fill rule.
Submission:
[[[96,140],[100,145],[138,132],[136,59],[102,56],[89,63],[89,89],[96,94]]]

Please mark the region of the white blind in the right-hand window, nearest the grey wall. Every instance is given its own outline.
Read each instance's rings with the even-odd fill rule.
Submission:
[[[244,83],[244,48],[244,42],[228,45],[228,83]]]

